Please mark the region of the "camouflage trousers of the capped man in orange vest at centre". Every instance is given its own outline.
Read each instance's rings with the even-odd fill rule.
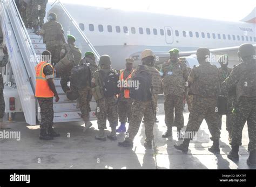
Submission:
[[[120,99],[118,102],[118,117],[121,123],[126,123],[127,119],[131,119],[131,108],[133,100],[131,98]]]

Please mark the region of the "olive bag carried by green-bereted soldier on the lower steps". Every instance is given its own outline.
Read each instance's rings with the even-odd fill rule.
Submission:
[[[71,69],[75,66],[75,57],[71,52],[70,44],[66,45],[66,55],[63,59],[59,60],[59,62],[54,66],[57,73],[69,73]]]

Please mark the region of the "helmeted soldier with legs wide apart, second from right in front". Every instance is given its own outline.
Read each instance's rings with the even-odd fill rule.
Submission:
[[[187,153],[190,140],[197,133],[203,120],[206,120],[213,146],[208,150],[219,153],[220,130],[218,128],[217,99],[220,93],[220,77],[218,68],[211,65],[206,58],[210,58],[210,51],[201,47],[197,50],[199,66],[194,67],[188,77],[188,85],[194,95],[193,106],[185,131],[185,139],[182,144],[174,145],[178,150]],[[188,136],[188,137],[187,137]]]

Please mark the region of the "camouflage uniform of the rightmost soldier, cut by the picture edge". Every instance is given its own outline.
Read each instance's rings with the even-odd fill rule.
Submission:
[[[233,68],[230,76],[223,82],[224,93],[234,86],[237,89],[235,123],[232,129],[232,146],[241,145],[242,129],[247,121],[248,151],[256,150],[256,61],[244,62]]]

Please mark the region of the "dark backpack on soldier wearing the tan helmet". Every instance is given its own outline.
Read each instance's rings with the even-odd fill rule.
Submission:
[[[132,78],[139,82],[138,88],[130,88],[130,98],[136,101],[149,101],[152,99],[152,78],[144,66],[139,66],[139,71]]]

